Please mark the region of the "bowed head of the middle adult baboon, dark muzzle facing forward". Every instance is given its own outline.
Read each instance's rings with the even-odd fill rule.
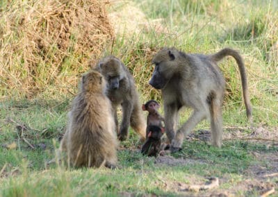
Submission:
[[[108,83],[108,89],[116,90],[120,87],[120,80],[124,78],[122,62],[114,56],[108,56],[99,62],[99,69]]]

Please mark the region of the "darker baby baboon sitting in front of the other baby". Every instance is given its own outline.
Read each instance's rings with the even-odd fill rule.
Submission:
[[[161,137],[164,129],[159,126],[151,125],[148,127],[148,136],[145,144],[142,146],[141,153],[143,155],[157,156],[161,151]]]

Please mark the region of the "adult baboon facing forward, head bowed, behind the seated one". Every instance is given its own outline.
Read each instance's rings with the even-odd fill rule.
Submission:
[[[118,58],[108,56],[99,61],[95,68],[105,76],[108,83],[107,95],[111,100],[117,133],[120,140],[126,139],[131,126],[145,139],[146,123],[140,109],[139,96],[133,76]],[[117,121],[117,107],[122,105],[120,131]]]

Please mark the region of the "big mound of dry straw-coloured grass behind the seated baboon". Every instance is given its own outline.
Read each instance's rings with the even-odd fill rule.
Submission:
[[[6,3],[5,3],[6,2]],[[113,40],[107,2],[3,1],[0,94],[31,98],[76,87],[79,74]]]

